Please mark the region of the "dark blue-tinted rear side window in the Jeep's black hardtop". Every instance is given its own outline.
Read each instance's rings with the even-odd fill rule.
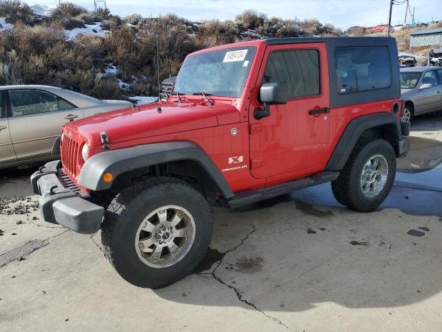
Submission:
[[[390,55],[383,46],[336,48],[338,93],[353,93],[390,86]]]

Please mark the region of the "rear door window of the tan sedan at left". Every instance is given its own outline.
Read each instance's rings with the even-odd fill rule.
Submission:
[[[10,90],[12,116],[58,111],[55,95],[41,90]]]

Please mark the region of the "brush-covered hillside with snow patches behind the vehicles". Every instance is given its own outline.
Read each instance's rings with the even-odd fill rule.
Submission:
[[[175,75],[187,54],[220,44],[269,37],[367,35],[318,20],[280,19],[247,10],[234,21],[193,22],[175,15],[119,17],[73,3],[28,6],[0,1],[0,84],[50,84],[97,98],[157,95],[160,79]],[[393,32],[408,50],[410,32]]]

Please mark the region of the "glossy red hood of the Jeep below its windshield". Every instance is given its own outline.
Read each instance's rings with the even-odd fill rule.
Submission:
[[[240,113],[230,103],[217,102],[208,106],[200,101],[156,102],[69,122],[66,129],[77,131],[88,140],[89,147],[93,147],[102,145],[100,131],[106,131],[112,143],[239,121]]]

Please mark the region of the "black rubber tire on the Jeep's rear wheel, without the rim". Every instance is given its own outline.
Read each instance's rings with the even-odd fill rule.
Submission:
[[[383,190],[374,197],[367,197],[361,189],[363,167],[371,156],[381,155],[387,160],[388,176]],[[396,175],[396,155],[387,140],[375,138],[359,140],[349,160],[340,172],[340,176],[332,182],[332,191],[336,200],[347,208],[369,212],[376,210],[383,203],[392,189]]]

